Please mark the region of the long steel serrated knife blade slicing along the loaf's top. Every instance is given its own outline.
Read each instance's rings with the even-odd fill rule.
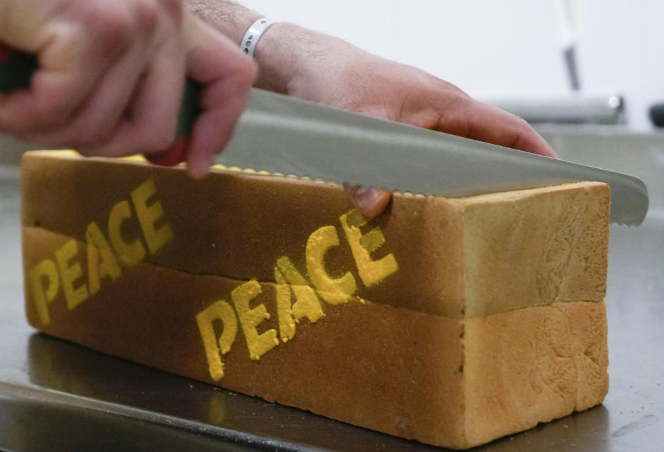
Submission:
[[[648,209],[637,177],[325,107],[259,89],[216,163],[442,197],[600,181],[611,222]]]

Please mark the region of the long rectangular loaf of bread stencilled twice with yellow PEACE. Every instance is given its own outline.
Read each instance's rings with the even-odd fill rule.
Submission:
[[[609,188],[395,193],[29,152],[26,316],[95,350],[468,448],[607,392]]]

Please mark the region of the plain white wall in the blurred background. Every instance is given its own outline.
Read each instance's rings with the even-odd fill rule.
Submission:
[[[412,64],[481,99],[570,96],[557,0],[240,0]],[[664,1],[571,0],[582,93],[622,93],[629,126],[664,101]]]

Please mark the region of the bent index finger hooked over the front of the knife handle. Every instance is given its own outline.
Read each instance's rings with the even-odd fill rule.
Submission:
[[[187,144],[187,171],[202,177],[214,156],[232,137],[255,78],[255,64],[234,43],[193,16],[185,17],[190,51],[187,72],[205,85],[203,113],[194,124]]]

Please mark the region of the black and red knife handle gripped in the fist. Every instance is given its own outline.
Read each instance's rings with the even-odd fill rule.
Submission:
[[[0,92],[9,93],[15,89],[30,87],[30,77],[37,70],[37,57],[30,53],[15,51],[0,43]],[[175,143],[164,152],[145,156],[156,165],[172,166],[184,160],[187,139],[201,113],[199,98],[202,87],[187,78],[185,93],[178,116],[178,129]]]

